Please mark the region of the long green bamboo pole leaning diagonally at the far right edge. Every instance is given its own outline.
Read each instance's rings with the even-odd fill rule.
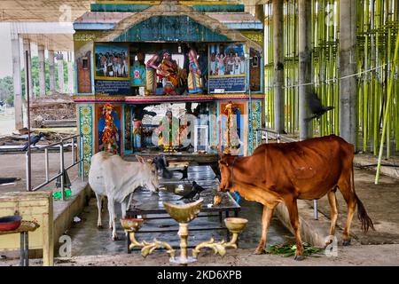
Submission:
[[[381,142],[379,145],[379,162],[378,162],[378,166],[377,166],[377,173],[375,176],[375,184],[376,185],[378,185],[378,183],[379,183],[379,172],[381,170],[382,153],[384,151],[384,142],[385,142],[384,141],[385,140],[385,131],[387,128],[387,120],[389,117],[389,106],[391,103],[392,86],[394,84],[395,66],[397,64],[398,53],[399,53],[399,33],[396,36],[394,61],[392,62],[392,67],[389,70],[390,74],[389,74],[389,81],[388,81],[388,88],[387,88],[387,107],[386,107],[386,112],[384,114]]]

